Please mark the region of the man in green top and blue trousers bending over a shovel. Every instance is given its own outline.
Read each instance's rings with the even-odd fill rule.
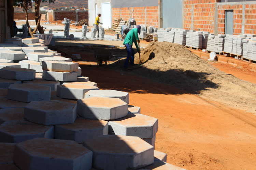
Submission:
[[[138,33],[140,34],[140,30],[141,30],[141,26],[136,26],[136,28],[133,28],[132,30],[130,30],[125,37],[125,40],[123,43],[127,49],[127,57],[124,64],[125,69],[129,67],[129,61],[130,61],[130,65],[134,65],[134,51],[132,49],[133,43],[135,44],[138,53],[140,53],[140,49],[137,44],[137,41],[138,43],[140,43],[140,39],[138,36]]]

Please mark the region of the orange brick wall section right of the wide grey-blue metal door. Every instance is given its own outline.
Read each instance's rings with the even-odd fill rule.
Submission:
[[[191,30],[194,16],[194,30],[214,32],[214,10],[216,0],[184,0],[184,29]],[[194,13],[192,13],[194,5]]]

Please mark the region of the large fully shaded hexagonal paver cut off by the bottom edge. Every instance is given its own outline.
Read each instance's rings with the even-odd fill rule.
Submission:
[[[22,170],[89,170],[93,153],[74,141],[35,138],[15,145],[14,163]]]

